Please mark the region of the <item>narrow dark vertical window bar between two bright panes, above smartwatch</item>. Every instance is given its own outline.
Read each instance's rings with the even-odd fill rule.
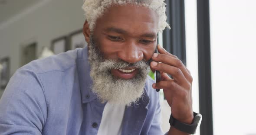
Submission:
[[[200,134],[213,135],[209,0],[197,0],[197,42],[199,108],[203,116]]]

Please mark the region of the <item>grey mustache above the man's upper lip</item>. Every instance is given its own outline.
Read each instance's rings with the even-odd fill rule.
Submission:
[[[101,62],[99,66],[99,70],[123,69],[123,68],[129,68],[129,67],[143,70],[149,67],[150,62],[151,61],[145,61],[144,59],[136,63],[129,63],[121,59],[118,59],[118,60],[105,59],[104,61]]]

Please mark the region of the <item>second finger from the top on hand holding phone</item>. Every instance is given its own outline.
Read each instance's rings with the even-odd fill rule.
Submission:
[[[152,60],[180,68],[186,79],[192,83],[193,78],[181,60],[165,54],[154,54]]]

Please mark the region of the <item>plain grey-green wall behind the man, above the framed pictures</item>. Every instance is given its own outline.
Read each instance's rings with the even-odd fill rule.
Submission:
[[[53,39],[82,29],[82,3],[83,0],[41,0],[0,25],[0,58],[10,57],[11,75],[20,67],[22,45],[37,42],[39,54]]]

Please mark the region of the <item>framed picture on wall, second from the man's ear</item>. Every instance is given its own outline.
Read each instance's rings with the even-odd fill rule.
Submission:
[[[67,39],[68,38],[66,36],[53,39],[51,50],[53,51],[54,54],[57,55],[59,53],[66,52],[69,50]]]

